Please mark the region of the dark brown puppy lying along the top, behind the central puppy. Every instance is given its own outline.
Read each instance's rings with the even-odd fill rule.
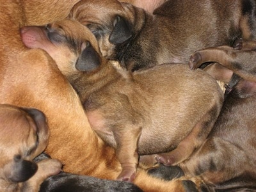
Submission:
[[[151,15],[116,0],[82,0],[69,18],[88,26],[100,52],[127,68],[187,63],[188,55],[206,47],[252,38],[255,1],[170,0]]]

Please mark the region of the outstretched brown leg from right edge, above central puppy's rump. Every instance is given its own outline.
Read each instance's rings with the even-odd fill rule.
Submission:
[[[250,47],[253,47],[253,44],[256,46],[256,42],[247,44]],[[248,51],[246,47],[243,48],[246,50],[239,49],[221,46],[196,51],[189,59],[189,67],[195,69],[202,63],[217,62],[248,81],[256,81],[256,52],[253,49]]]

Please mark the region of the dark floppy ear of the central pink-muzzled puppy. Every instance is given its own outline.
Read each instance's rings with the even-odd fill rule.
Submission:
[[[100,66],[100,56],[88,42],[87,45],[82,44],[82,52],[76,61],[76,68],[79,71],[90,72]]]

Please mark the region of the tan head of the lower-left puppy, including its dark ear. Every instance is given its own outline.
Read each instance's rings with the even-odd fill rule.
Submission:
[[[33,159],[47,146],[49,129],[44,113],[37,109],[0,105],[0,178],[24,182],[37,165]]]

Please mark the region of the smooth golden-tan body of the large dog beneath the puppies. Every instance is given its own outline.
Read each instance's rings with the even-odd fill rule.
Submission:
[[[56,2],[56,6],[46,6],[45,3],[40,10],[33,6],[33,12],[30,13],[24,12],[29,10],[24,6],[29,5],[23,1],[1,3],[0,103],[38,108],[45,113],[51,130],[46,150],[52,158],[60,159],[65,164],[64,171],[115,179],[120,173],[115,150],[105,145],[93,132],[72,86],[49,54],[38,49],[28,49],[21,41],[20,26],[52,22],[52,13],[67,3]],[[29,15],[36,13],[44,15],[40,20]],[[186,190],[182,180],[163,182],[149,177],[143,170],[138,172],[134,182],[144,191]]]

